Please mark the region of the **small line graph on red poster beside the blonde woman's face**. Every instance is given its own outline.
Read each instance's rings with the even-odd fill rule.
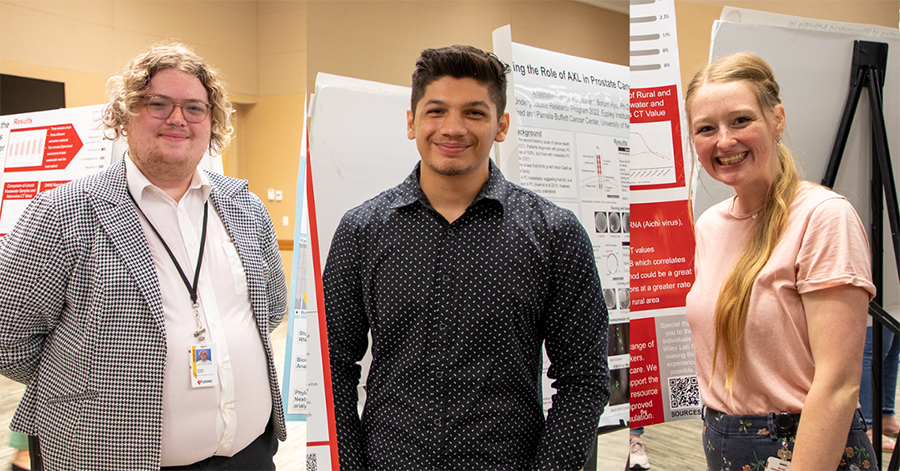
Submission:
[[[675,182],[672,127],[668,121],[631,124],[631,185]]]

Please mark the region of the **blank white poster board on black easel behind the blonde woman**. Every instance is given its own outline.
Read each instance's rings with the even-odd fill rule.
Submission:
[[[784,143],[791,150],[800,178],[821,182],[831,155],[850,89],[853,41],[888,44],[887,71],[883,90],[884,120],[888,144],[900,152],[900,38],[891,28],[825,22],[808,18],[766,14],[726,8],[722,18],[765,20],[784,26],[755,22],[716,21],[712,30],[710,60],[741,51],[753,52],[772,66],[781,86],[787,127]],[[793,26],[791,26],[793,25]],[[834,190],[853,205],[865,227],[870,227],[869,181],[871,175],[871,122],[868,92],[863,92],[844,151]],[[894,165],[894,181],[900,182],[900,166]],[[702,175],[697,185],[694,214],[733,195],[732,190]],[[900,303],[900,280],[890,224],[884,220],[884,305]]]

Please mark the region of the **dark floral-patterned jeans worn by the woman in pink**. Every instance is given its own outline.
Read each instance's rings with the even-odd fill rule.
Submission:
[[[775,414],[727,415],[706,408],[703,417],[703,451],[709,471],[764,469],[770,456],[778,456],[782,440],[775,432]],[[799,423],[796,414],[794,423]],[[796,428],[793,434],[796,434]],[[793,437],[788,439],[793,451]],[[863,419],[857,410],[853,415],[847,444],[843,448],[838,471],[853,469],[876,471],[875,450],[863,429]],[[830,471],[830,470],[822,470]]]

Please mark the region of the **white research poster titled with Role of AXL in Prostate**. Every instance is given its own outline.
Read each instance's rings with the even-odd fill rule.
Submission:
[[[598,425],[618,425],[628,420],[629,410],[628,68],[503,44],[508,37],[508,28],[494,33],[494,49],[512,68],[514,96],[508,108],[515,126],[500,154],[511,155],[503,147],[515,146],[518,159],[501,169],[570,209],[590,236],[610,319],[611,396]],[[514,165],[518,171],[509,168]],[[549,366],[545,356],[545,411],[554,393]]]

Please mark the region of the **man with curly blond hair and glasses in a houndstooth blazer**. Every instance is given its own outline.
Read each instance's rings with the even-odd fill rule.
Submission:
[[[274,470],[278,243],[247,182],[198,168],[230,139],[224,83],[166,42],[107,92],[127,154],[0,239],[0,372],[29,384],[11,427],[47,470]]]

